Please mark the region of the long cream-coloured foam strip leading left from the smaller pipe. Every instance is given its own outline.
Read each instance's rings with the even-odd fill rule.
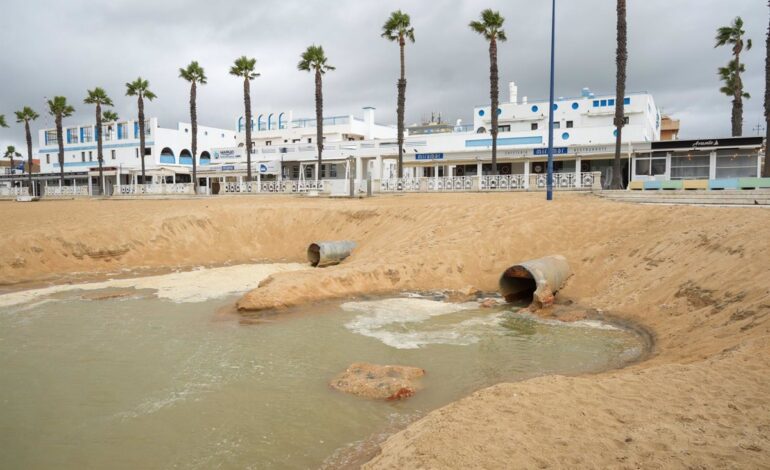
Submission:
[[[306,265],[296,263],[239,264],[218,268],[198,268],[192,271],[180,271],[132,279],[110,279],[101,282],[63,284],[0,295],[0,307],[45,302],[49,301],[47,298],[50,296],[62,292],[115,288],[150,289],[155,291],[159,298],[172,302],[203,302],[254,289],[263,279],[271,274],[306,268]]]

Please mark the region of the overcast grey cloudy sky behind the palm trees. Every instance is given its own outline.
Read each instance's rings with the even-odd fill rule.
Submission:
[[[558,0],[557,96],[582,87],[614,93],[615,2]],[[258,59],[262,76],[252,87],[255,113],[313,113],[313,79],[296,69],[299,54],[324,46],[337,67],[324,83],[325,114],[360,114],[375,106],[378,122],[395,122],[398,48],[380,38],[395,9],[412,17],[416,43],[407,48],[407,122],[440,112],[447,120],[471,119],[488,100],[488,55],[468,22],[491,7],[506,18],[508,42],[500,47],[501,98],[508,81],[530,101],[547,97],[550,2],[546,0],[4,0],[0,29],[0,114],[11,124],[24,105],[41,114],[36,127],[52,125],[46,97],[66,96],[89,122],[86,89],[104,87],[121,117],[134,116],[125,82],[149,79],[158,99],[148,114],[164,127],[189,119],[188,85],[178,69],[198,60],[209,82],[199,91],[201,124],[233,128],[242,112],[241,82],[230,75],[240,55]],[[752,99],[744,133],[763,119],[765,32],[768,11],[759,0],[630,0],[628,90],[649,91],[658,106],[682,120],[682,137],[730,133],[730,99],[719,93],[718,66],[730,59],[714,49],[717,27],[740,15],[755,48],[744,55],[744,83]],[[20,145],[22,128],[0,130],[0,146]]]

